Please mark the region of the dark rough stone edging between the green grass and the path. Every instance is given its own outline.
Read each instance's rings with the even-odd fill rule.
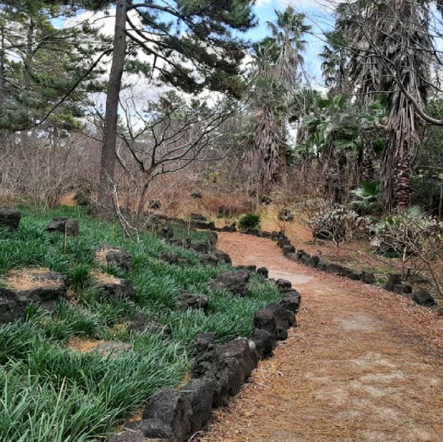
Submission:
[[[268,276],[266,267],[240,268],[240,272]],[[271,357],[277,341],[287,339],[287,330],[296,326],[300,293],[290,281],[269,281],[277,285],[281,301],[256,312],[251,339],[238,337],[216,345],[213,333],[198,335],[192,379],[179,389],[161,389],[147,403],[142,420],[125,425],[125,431],[108,442],[144,442],[146,438],[185,442],[208,423],[214,408],[227,405],[259,360]]]

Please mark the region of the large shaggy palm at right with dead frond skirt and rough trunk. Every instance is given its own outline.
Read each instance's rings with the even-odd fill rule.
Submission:
[[[406,209],[410,175],[420,143],[417,116],[425,108],[432,43],[426,1],[346,2],[343,27],[350,42],[348,72],[357,97],[370,103],[375,92],[388,94],[386,148],[381,166],[383,206]],[[406,98],[406,94],[415,103]]]

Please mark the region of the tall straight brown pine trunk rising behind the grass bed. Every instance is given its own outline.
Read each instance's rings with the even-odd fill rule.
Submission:
[[[116,26],[111,73],[107,89],[105,127],[103,130],[102,159],[100,163],[100,188],[98,202],[102,209],[112,207],[114,168],[116,164],[116,137],[118,121],[118,100],[122,85],[123,67],[126,55],[126,14],[128,0],[116,3]]]

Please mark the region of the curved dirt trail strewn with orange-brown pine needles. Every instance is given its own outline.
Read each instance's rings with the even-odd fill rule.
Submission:
[[[270,240],[220,233],[236,265],[302,294],[298,328],[201,442],[443,441],[443,319],[408,300],[287,260]]]

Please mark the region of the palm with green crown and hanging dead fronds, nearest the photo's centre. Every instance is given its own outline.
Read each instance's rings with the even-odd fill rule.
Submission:
[[[300,52],[306,43],[302,35],[309,30],[303,23],[305,15],[291,7],[275,14],[275,24],[268,22],[271,36],[254,48],[253,128],[244,161],[265,193],[279,179],[286,180],[289,114],[299,82]]]

